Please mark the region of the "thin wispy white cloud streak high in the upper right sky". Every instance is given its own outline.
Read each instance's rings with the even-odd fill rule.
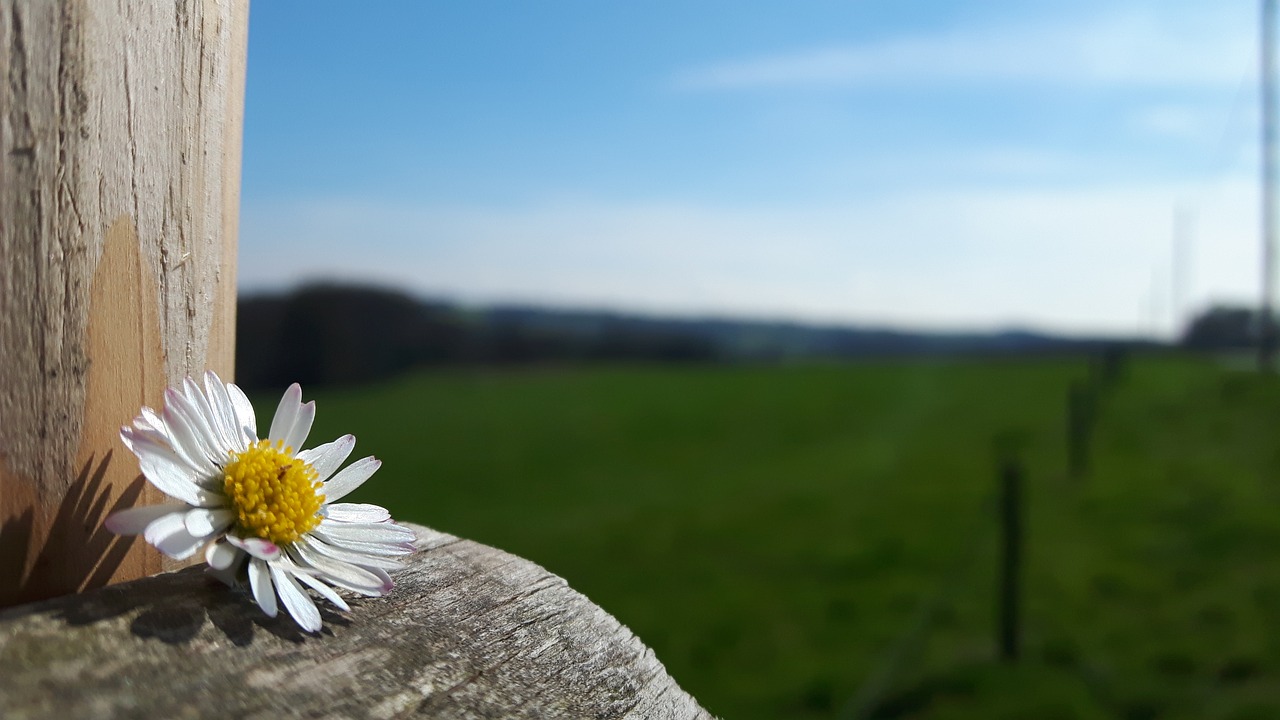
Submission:
[[[1245,4],[1203,4],[1080,20],[952,28],[874,42],[799,49],[678,73],[685,90],[890,83],[1105,86],[1235,85],[1252,72]]]

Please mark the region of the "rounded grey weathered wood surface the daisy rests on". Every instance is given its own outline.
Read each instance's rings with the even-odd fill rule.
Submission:
[[[319,635],[198,568],[0,614],[0,708],[28,717],[710,716],[561,578],[413,527],[385,598]]]

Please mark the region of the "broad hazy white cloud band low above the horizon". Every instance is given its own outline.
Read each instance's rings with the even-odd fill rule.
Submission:
[[[239,273],[246,288],[346,278],[465,301],[1125,333],[1148,331],[1153,293],[1169,296],[1152,278],[1170,277],[1179,197],[1199,197],[1192,304],[1252,297],[1248,179],[1207,195],[955,191],[838,208],[247,208]]]

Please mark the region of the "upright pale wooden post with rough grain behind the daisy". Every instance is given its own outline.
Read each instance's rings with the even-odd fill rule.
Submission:
[[[0,606],[163,569],[118,432],[230,378],[246,0],[0,0]]]

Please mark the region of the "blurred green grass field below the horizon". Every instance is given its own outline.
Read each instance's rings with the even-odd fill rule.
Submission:
[[[312,445],[352,432],[385,461],[356,500],[563,575],[723,717],[1280,717],[1280,384],[1134,361],[1071,479],[1085,377],[451,370],[307,395]],[[1018,664],[996,659],[997,438],[1028,475]]]

